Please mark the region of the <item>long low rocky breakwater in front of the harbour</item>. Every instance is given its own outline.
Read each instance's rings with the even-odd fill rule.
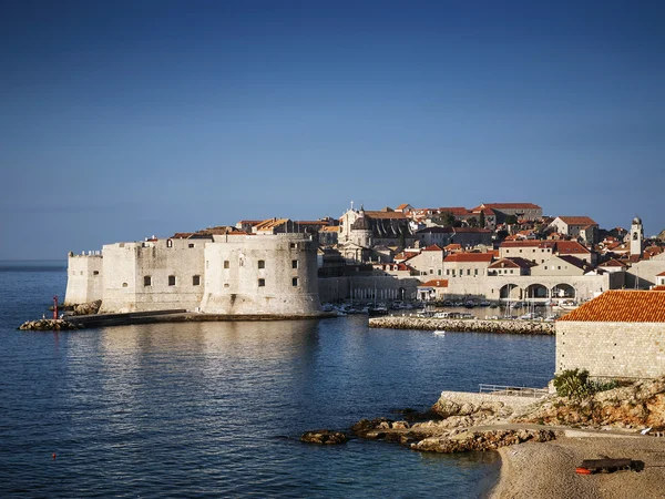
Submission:
[[[431,317],[386,316],[370,318],[369,327],[521,335],[555,334],[554,323],[536,320],[440,319]]]

